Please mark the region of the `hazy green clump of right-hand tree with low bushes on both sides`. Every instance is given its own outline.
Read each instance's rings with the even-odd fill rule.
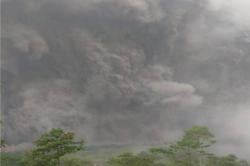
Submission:
[[[125,153],[112,158],[108,166],[250,166],[234,155],[217,157],[208,153],[206,149],[214,143],[214,135],[207,127],[194,126],[170,147],[153,148],[137,155]]]

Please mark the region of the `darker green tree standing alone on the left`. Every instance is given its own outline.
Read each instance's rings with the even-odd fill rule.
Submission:
[[[60,158],[83,148],[83,141],[74,141],[73,132],[52,129],[43,134],[36,142],[35,148],[25,155],[25,166],[60,166]]]

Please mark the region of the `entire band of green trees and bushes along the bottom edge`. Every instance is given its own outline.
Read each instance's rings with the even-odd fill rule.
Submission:
[[[74,133],[62,129],[53,129],[43,134],[35,147],[22,153],[1,154],[3,166],[250,166],[247,161],[235,155],[223,157],[209,153],[209,147],[215,143],[214,135],[207,127],[194,126],[186,130],[183,138],[168,147],[151,148],[132,153],[116,154],[109,152],[109,159],[99,161],[93,157],[86,159],[86,148],[83,153],[72,154],[83,149],[83,141],[74,141]],[[91,148],[89,148],[90,150]],[[107,147],[105,147],[107,149]],[[100,149],[92,150],[98,153]],[[116,149],[117,150],[117,149]],[[127,149],[128,150],[128,149]],[[106,153],[106,152],[101,152]],[[120,153],[120,152],[119,152]],[[69,155],[71,154],[71,155]],[[81,154],[79,156],[79,154]],[[106,155],[106,154],[105,154]],[[84,156],[84,157],[83,157]]]

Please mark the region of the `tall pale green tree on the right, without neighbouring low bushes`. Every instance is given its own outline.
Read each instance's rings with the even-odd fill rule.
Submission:
[[[207,158],[205,149],[214,143],[214,135],[207,127],[193,126],[176,144],[167,149],[152,149],[151,152],[165,154],[173,165],[196,166]]]

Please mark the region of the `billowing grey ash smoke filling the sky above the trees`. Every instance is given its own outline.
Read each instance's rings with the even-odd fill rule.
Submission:
[[[248,2],[1,5],[1,110],[9,143],[62,127],[89,144],[152,144],[202,124],[225,142],[221,151],[249,154],[250,137],[239,123],[249,114],[249,17],[239,12]]]

